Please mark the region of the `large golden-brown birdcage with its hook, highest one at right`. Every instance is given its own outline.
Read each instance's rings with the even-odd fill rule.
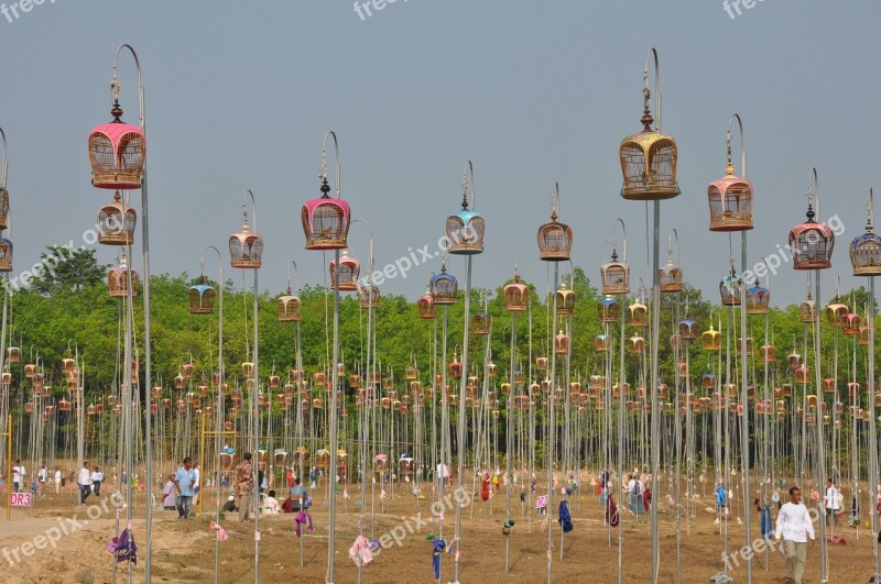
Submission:
[[[657,53],[655,56],[655,71],[657,70]],[[651,56],[651,54],[650,54]],[[619,156],[624,184],[621,196],[628,200],[662,200],[671,199],[679,194],[676,184],[676,161],[678,151],[676,141],[667,134],[655,131],[649,102],[649,62],[645,63],[645,84],[643,87],[643,112],[640,123],[642,132],[624,137],[621,141]],[[659,79],[655,74],[655,104],[661,108]],[[660,115],[660,113],[659,113]]]

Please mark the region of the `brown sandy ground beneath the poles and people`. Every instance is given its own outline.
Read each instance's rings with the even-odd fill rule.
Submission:
[[[106,488],[106,487],[105,487]],[[357,486],[349,487],[351,497],[346,502],[338,496],[335,582],[358,581],[358,570],[349,559],[348,549],[358,535],[360,508],[356,506]],[[379,489],[377,489],[378,494]],[[294,533],[293,515],[261,518],[260,580],[263,582],[325,582],[327,569],[328,507],[320,494],[313,507],[315,531],[302,540]],[[55,582],[112,582],[113,558],[106,551],[108,540],[116,533],[117,521],[112,504],[104,511],[100,504],[89,508],[76,507],[73,494],[50,495],[37,500],[30,509],[15,509],[12,519],[0,519],[0,580],[2,582],[55,583]],[[142,495],[141,495],[142,497]],[[94,502],[93,502],[94,503]],[[387,498],[383,508],[376,498],[374,539],[385,533],[405,532],[399,547],[392,541],[389,549],[379,553],[372,563],[361,571],[363,582],[433,582],[432,546],[428,533],[438,533],[439,524],[417,526],[411,519],[421,513],[421,519],[431,518],[431,500],[417,502],[412,495],[399,491]],[[709,582],[709,576],[722,568],[721,557],[725,538],[720,526],[714,525],[716,514],[707,510],[708,500],[697,505],[686,533],[685,517],[681,538],[682,582]],[[417,506],[418,505],[418,506]],[[513,497],[512,515],[516,525],[510,536],[503,536],[504,496],[497,495],[489,505],[476,502],[464,513],[463,550],[459,564],[459,581],[480,582],[541,582],[547,577],[547,531],[541,530],[541,518],[535,513],[524,513],[516,494]],[[455,504],[453,504],[455,507]],[[491,509],[490,509],[491,507]],[[563,541],[563,560],[559,560],[561,530],[554,522],[553,580],[555,582],[617,582],[619,547],[617,530],[605,527],[602,509],[598,498],[583,492],[572,498],[574,529]],[[209,522],[209,502],[205,511],[187,520],[176,520],[176,513],[159,510],[154,515],[153,528],[153,577],[157,582],[213,582],[215,566],[215,532]],[[368,520],[370,518],[368,496]],[[661,515],[661,582],[676,581],[676,531],[674,514],[666,504]],[[90,515],[89,515],[90,514]],[[530,516],[532,521],[530,521]],[[91,518],[89,518],[91,517]],[[486,517],[486,519],[485,519]],[[742,518],[741,518],[742,520]],[[410,527],[413,533],[410,533]],[[121,524],[124,527],[124,510]],[[142,517],[134,519],[134,540],[139,546],[139,563],[132,566],[132,580],[144,580],[145,536]],[[228,530],[229,540],[219,543],[220,573],[218,582],[253,582],[254,535],[253,522],[241,524],[238,517],[221,520]],[[40,538],[51,535],[53,528],[66,526],[68,535],[62,535],[53,544]],[[76,526],[74,528],[74,526]],[[369,524],[368,524],[369,526]],[[444,536],[452,539],[455,526],[455,508],[446,509]],[[737,513],[728,521],[729,549],[744,544],[744,528]],[[753,538],[759,532],[759,515],[752,516]],[[57,532],[52,532],[57,533]],[[840,531],[847,544],[829,544],[829,582],[868,582],[872,574],[872,538],[862,528],[857,531],[844,527]],[[368,527],[368,537],[370,530]],[[301,542],[303,565],[301,566]],[[509,572],[505,573],[505,542],[510,546]],[[36,549],[40,544],[43,549]],[[31,549],[28,546],[33,544]],[[30,551],[31,553],[26,553]],[[18,557],[15,555],[18,552]],[[638,522],[624,516],[622,582],[650,582],[651,535],[643,516]],[[784,560],[779,552],[753,560],[753,582],[783,582]],[[746,582],[746,561],[730,571],[736,582]],[[119,564],[117,579],[127,579],[127,564]],[[806,582],[819,582],[819,546],[808,549]],[[454,555],[444,554],[442,582],[454,581]]]

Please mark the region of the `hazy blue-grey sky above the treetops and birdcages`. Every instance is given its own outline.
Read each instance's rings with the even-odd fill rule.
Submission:
[[[621,137],[640,129],[642,68],[655,46],[683,190],[663,203],[662,233],[678,230],[686,279],[718,299],[728,238],[707,229],[706,189],[724,174],[737,111],[757,188],[750,263],[804,219],[816,166],[822,213],[846,227],[824,275],[828,299],[834,275],[842,288],[857,283],[847,244],[862,232],[868,188],[881,188],[878,140],[860,137],[874,135],[881,95],[881,5],[764,0],[741,12],[732,20],[721,0],[398,0],[361,20],[348,0],[45,0],[12,22],[0,15],[14,274],[48,244],[79,243],[110,200],[89,185],[86,137],[109,121],[113,53],[127,42],[146,86],[154,273],[196,273],[209,244],[228,262],[251,188],[267,243],[261,287],[281,293],[291,258],[301,282],[323,282],[322,254],[303,249],[300,209],[318,195],[320,142],[334,129],[342,196],[372,224],[378,266],[407,247],[435,249],[470,158],[488,225],[476,286],[510,277],[516,254],[524,279],[545,289],[535,231],[555,180],[574,263],[596,282],[620,217],[634,279],[648,280],[644,206],[619,197],[617,156]],[[128,57],[120,80],[134,123]],[[362,225],[350,241],[366,263]],[[112,249],[98,253],[115,258]],[[382,288],[415,299],[438,268],[435,260]],[[464,261],[450,272],[461,274]],[[770,286],[774,304],[804,296],[790,265]]]

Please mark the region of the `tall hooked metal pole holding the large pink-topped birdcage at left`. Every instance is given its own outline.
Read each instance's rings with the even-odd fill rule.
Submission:
[[[128,49],[134,59],[134,66],[138,71],[138,119],[141,125],[141,131],[146,133],[146,115],[144,106],[144,86],[141,80],[141,59],[138,58],[138,53],[130,44],[121,44],[113,56],[113,78],[116,78],[117,69],[119,66],[119,56],[123,49]],[[148,212],[148,189],[146,189],[146,161],[144,161],[141,170],[141,236],[143,238],[143,306],[144,306],[144,365],[145,375],[145,408],[150,412],[152,396],[150,395],[151,378],[152,378],[152,342],[150,338],[150,214]],[[129,257],[131,262],[131,257]],[[145,416],[145,482],[150,489],[150,497],[146,502],[146,566],[144,569],[144,579],[151,582],[152,577],[152,558],[153,558],[153,444],[151,440],[153,425],[150,414]],[[131,506],[129,506],[129,521],[131,521]]]

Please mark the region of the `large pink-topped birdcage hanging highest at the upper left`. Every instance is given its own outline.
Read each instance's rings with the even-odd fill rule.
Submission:
[[[118,86],[115,86],[118,90]],[[91,184],[96,188],[131,190],[141,188],[146,158],[146,137],[140,128],[121,120],[119,95],[110,114],[113,121],[89,133]]]

